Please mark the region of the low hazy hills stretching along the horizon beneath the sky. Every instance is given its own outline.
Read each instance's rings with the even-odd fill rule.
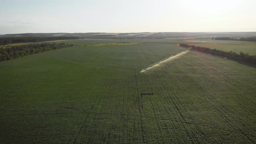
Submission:
[[[187,32],[159,32],[159,33],[20,33],[0,35],[1,38],[22,38],[22,37],[79,37],[92,39],[161,39],[168,37],[253,37],[256,32],[204,32],[204,33],[187,33]]]

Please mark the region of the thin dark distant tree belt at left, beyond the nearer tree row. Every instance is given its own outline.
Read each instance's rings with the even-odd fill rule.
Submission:
[[[8,45],[13,43],[30,43],[30,42],[44,42],[51,40],[64,40],[64,39],[80,39],[78,36],[44,36],[44,37],[15,37],[15,38],[0,38],[0,45]]]

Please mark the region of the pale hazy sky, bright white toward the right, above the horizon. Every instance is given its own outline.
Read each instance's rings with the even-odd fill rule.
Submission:
[[[0,0],[0,34],[256,31],[256,0]]]

